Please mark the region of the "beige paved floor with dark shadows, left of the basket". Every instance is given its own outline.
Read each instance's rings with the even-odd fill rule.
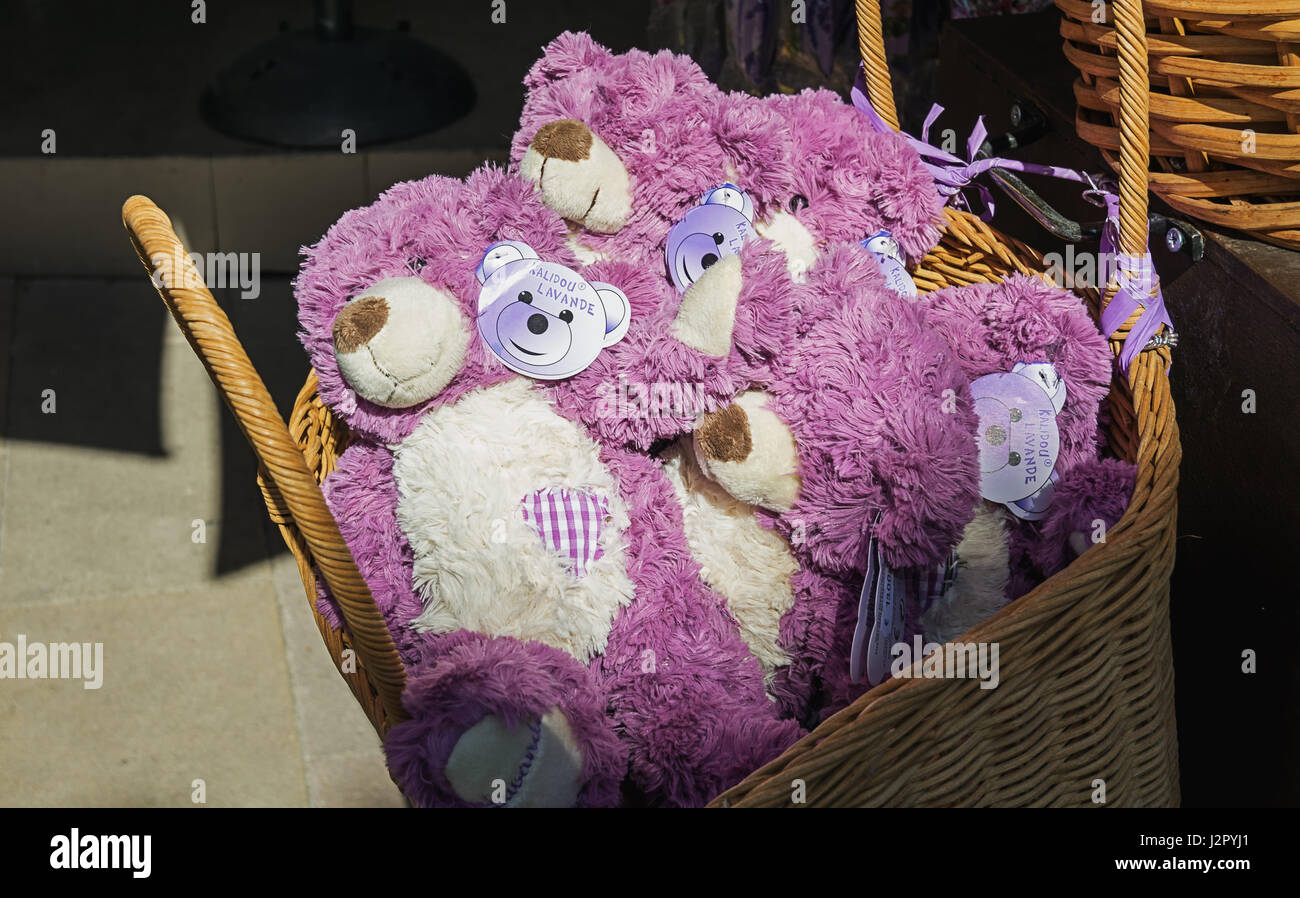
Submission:
[[[291,402],[291,294],[264,287],[233,318]],[[0,680],[0,804],[188,806],[203,780],[212,806],[399,806],[251,452],[143,274],[0,279],[0,641],[104,643],[99,690]]]

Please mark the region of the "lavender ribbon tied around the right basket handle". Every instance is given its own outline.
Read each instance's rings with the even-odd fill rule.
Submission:
[[[876,108],[871,105],[871,100],[867,97],[866,70],[862,65],[858,66],[858,77],[853,82],[850,96],[853,105],[867,117],[872,130],[883,134],[897,133],[889,122],[880,117]],[[935,123],[935,120],[942,112],[944,107],[937,103],[933,104],[930,108],[930,114],[926,116],[926,123],[922,126],[920,139],[910,134],[902,134],[902,138],[920,155],[922,165],[935,178],[939,194],[950,205],[974,213],[963,191],[968,187],[975,187],[980,195],[982,211],[979,212],[979,217],[984,221],[991,221],[994,211],[993,196],[988,187],[974,183],[974,181],[994,168],[1087,183],[1092,187],[1093,194],[1105,200],[1106,225],[1101,230],[1101,244],[1098,247],[1101,263],[1098,268],[1104,276],[1102,283],[1109,285],[1115,282],[1119,286],[1110,304],[1101,313],[1102,333],[1115,333],[1136,309],[1143,309],[1138,322],[1128,331],[1128,337],[1124,338],[1123,348],[1119,351],[1119,370],[1127,374],[1132,360],[1147,346],[1147,342],[1162,326],[1167,326],[1173,331],[1174,321],[1165,308],[1165,294],[1160,289],[1160,277],[1156,274],[1156,264],[1150,257],[1150,247],[1148,246],[1141,256],[1130,256],[1118,252],[1119,198],[1114,191],[1098,188],[1091,177],[1075,169],[1037,165],[1035,162],[1023,162],[1018,159],[1000,159],[996,156],[975,159],[979,148],[984,146],[984,139],[988,136],[988,127],[984,125],[983,116],[976,120],[970,138],[966,139],[966,155],[968,159],[962,160],[953,156],[930,143],[930,126]]]

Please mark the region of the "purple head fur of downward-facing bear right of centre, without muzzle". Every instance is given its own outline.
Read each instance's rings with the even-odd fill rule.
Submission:
[[[872,532],[893,567],[936,563],[979,496],[962,372],[910,300],[868,289],[874,266],[855,246],[820,261],[807,290],[840,301],[807,317],[763,385],[798,447],[800,495],[783,529],[802,522],[801,555],[832,573],[866,571]]]

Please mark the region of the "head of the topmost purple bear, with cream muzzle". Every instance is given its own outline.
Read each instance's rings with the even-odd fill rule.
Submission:
[[[774,192],[790,178],[775,112],[723,94],[686,56],[566,32],[524,84],[512,161],[594,252],[662,253],[672,225],[738,172],[759,220],[788,200]]]

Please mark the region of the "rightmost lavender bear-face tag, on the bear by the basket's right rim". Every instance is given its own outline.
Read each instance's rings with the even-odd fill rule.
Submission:
[[[1057,413],[1065,381],[1048,363],[1018,363],[1010,372],[971,383],[979,415],[980,495],[1036,521],[1052,504],[1061,452]]]

